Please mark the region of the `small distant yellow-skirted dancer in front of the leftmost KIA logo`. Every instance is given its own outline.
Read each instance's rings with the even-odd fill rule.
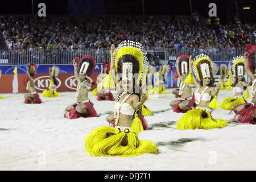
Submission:
[[[47,90],[44,90],[42,96],[43,97],[60,97],[60,95],[56,92],[57,80],[60,71],[59,67],[53,66],[49,68],[49,77],[50,77],[50,85]]]

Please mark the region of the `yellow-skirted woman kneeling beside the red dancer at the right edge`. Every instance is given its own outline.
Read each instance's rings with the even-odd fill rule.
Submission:
[[[243,96],[243,90],[246,89],[250,83],[246,84],[245,78],[245,60],[243,56],[234,57],[233,60],[233,71],[236,77],[233,76],[231,71],[231,64],[228,65],[229,76],[231,80],[234,82],[234,97],[227,97],[221,102],[221,109],[224,110],[233,110],[237,105],[246,103],[246,98]]]

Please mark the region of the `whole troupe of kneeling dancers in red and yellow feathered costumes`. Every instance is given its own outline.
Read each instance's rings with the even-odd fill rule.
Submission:
[[[172,101],[170,106],[177,113],[184,115],[177,121],[176,128],[187,129],[214,129],[228,125],[230,121],[212,117],[213,109],[218,108],[217,96],[221,89],[231,89],[234,82],[234,97],[225,98],[221,102],[221,109],[234,111],[233,121],[241,123],[256,123],[255,115],[255,49],[256,46],[246,44],[247,52],[243,56],[233,59],[233,65],[229,64],[220,67],[220,82],[214,87],[214,75],[217,73],[217,65],[204,54],[195,57],[182,55],[177,57],[177,74],[179,75],[179,89],[172,93],[179,100]],[[124,41],[115,48],[110,48],[110,64],[104,63],[104,75],[99,78],[98,86],[88,81],[95,68],[95,60],[90,55],[82,59],[75,58],[73,67],[75,78],[78,82],[75,104],[69,105],[64,111],[64,117],[75,119],[79,117],[98,117],[93,103],[88,98],[89,90],[97,100],[114,100],[114,112],[109,114],[106,121],[109,126],[102,126],[93,130],[85,140],[85,149],[92,156],[135,156],[144,153],[158,154],[159,148],[151,140],[139,140],[138,133],[147,129],[147,122],[144,118],[145,112],[152,114],[145,106],[148,100],[148,93],[166,94],[164,88],[165,68],[160,68],[159,81],[155,88],[147,85],[151,68],[147,65],[146,55],[140,43]],[[34,67],[34,68],[33,68]],[[153,69],[154,71],[154,69]],[[30,64],[27,68],[27,90],[25,102],[27,104],[39,103],[38,93],[35,92],[34,81],[36,65]],[[59,96],[56,92],[57,67],[49,69],[51,85],[45,90],[44,96]],[[244,75],[250,78],[246,83]],[[234,76],[233,76],[234,74]],[[229,75],[228,81],[225,80]],[[251,84],[251,103],[243,96],[243,91]],[[192,94],[192,89],[196,92]],[[151,89],[151,92],[148,90]],[[152,90],[154,90],[152,92]],[[55,91],[55,92],[54,92]],[[144,108],[144,109],[143,109]],[[144,110],[144,114],[143,114]],[[150,113],[151,112],[151,113]],[[171,115],[171,114],[170,114]]]

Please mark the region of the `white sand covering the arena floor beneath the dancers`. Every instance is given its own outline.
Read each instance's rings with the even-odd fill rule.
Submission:
[[[250,88],[249,88],[250,89]],[[113,111],[113,101],[90,100],[98,118],[66,119],[63,111],[75,103],[75,92],[60,92],[59,98],[45,98],[42,104],[23,104],[24,93],[0,94],[0,169],[1,170],[255,170],[256,125],[229,123],[224,129],[177,130],[176,121],[183,115],[174,113],[169,103],[172,89],[158,100],[146,102],[153,112],[145,117],[149,127],[170,122],[167,127],[153,127],[139,133],[141,140],[172,142],[159,146],[160,154],[143,154],[130,158],[92,157],[84,148],[85,137],[104,123]],[[218,102],[232,96],[221,90]],[[251,101],[251,98],[248,98]],[[168,109],[168,110],[167,110]],[[234,113],[216,109],[214,118],[231,120]],[[172,122],[171,121],[175,121]],[[192,142],[177,143],[181,138]],[[176,143],[175,143],[176,142]]]

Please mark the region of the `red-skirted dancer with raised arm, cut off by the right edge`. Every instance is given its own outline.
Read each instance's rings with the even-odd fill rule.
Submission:
[[[251,85],[251,103],[240,104],[234,107],[236,115],[233,118],[234,122],[256,124],[256,46],[246,44],[246,51],[243,55],[245,57],[245,72],[249,76],[250,80],[253,81]]]

